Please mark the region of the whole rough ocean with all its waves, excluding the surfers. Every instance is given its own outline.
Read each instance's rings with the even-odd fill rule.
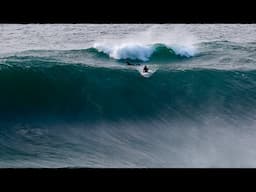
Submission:
[[[1,168],[256,167],[255,138],[255,24],[0,24]]]

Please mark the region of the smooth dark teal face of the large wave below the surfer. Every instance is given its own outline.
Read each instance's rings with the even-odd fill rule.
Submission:
[[[2,66],[1,121],[54,117],[82,121],[247,114],[256,106],[256,71],[136,70],[83,65]]]

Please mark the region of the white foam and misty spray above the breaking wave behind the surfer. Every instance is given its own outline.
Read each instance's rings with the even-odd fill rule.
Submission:
[[[122,39],[107,39],[95,42],[93,47],[114,59],[148,61],[154,53],[154,44],[163,44],[177,55],[192,57],[197,53],[196,38],[184,26],[174,26],[172,30],[159,25],[146,31],[129,34]]]

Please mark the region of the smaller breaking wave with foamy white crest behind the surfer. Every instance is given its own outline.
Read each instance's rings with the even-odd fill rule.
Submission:
[[[149,61],[153,55],[164,54],[165,57],[176,55],[188,58],[196,54],[196,49],[193,46],[166,45],[161,43],[151,45],[139,43],[123,43],[120,45],[95,43],[93,48],[113,59],[131,59],[144,62]]]

